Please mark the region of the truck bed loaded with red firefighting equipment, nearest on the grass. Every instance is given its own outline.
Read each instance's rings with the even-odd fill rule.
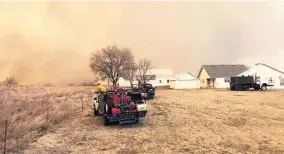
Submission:
[[[141,93],[127,93],[122,89],[107,91],[103,98],[94,96],[95,116],[104,116],[104,124],[138,123],[147,114],[146,102]]]

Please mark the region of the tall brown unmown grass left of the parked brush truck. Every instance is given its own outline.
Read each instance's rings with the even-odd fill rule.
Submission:
[[[1,87],[0,137],[4,138],[3,123],[8,120],[7,149],[17,153],[43,135],[48,127],[75,114],[81,109],[81,97],[86,101],[90,95],[74,87]]]

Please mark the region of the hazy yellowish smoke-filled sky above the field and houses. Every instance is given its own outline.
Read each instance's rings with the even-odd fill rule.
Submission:
[[[284,2],[0,2],[0,80],[92,79],[92,51],[116,44],[156,68],[263,62],[284,70]]]

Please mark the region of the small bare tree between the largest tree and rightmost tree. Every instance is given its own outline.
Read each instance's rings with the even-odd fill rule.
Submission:
[[[138,66],[135,63],[129,64],[127,68],[122,72],[122,77],[130,82],[131,88],[133,88],[133,81],[138,70]]]

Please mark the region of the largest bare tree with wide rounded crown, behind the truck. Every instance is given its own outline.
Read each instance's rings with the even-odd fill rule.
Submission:
[[[130,49],[114,45],[93,52],[89,67],[95,75],[109,79],[115,87],[123,71],[133,63],[134,56]]]

